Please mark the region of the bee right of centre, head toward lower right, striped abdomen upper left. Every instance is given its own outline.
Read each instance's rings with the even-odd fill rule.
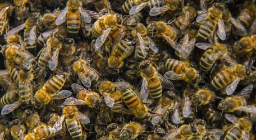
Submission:
[[[167,59],[165,62],[167,71],[164,76],[174,80],[184,80],[196,86],[200,81],[200,75],[188,62],[175,59]]]

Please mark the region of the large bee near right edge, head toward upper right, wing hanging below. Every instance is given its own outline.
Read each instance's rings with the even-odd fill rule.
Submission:
[[[241,64],[235,64],[218,72],[213,77],[211,85],[216,90],[226,88],[223,93],[231,95],[234,93],[237,85],[239,84],[239,81],[249,75],[250,71],[248,70],[248,67]]]

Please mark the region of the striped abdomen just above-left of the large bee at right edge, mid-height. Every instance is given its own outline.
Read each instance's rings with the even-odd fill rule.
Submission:
[[[214,52],[212,49],[208,49],[204,52],[199,62],[200,69],[202,71],[209,71],[212,69],[212,66],[217,60],[217,57],[213,57],[213,55],[214,55]]]

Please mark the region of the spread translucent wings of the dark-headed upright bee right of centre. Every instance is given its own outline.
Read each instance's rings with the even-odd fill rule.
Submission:
[[[155,75],[161,80],[164,88],[173,89],[174,85],[171,80],[165,78],[163,75],[159,74],[157,71],[154,72]],[[142,78],[142,84],[140,88],[140,96],[143,102],[148,99],[149,90],[148,90],[148,81],[145,77]]]

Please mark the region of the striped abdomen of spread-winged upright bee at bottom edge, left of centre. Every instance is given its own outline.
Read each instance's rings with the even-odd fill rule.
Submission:
[[[83,131],[79,119],[66,119],[65,121],[72,139],[80,140],[83,136]]]

